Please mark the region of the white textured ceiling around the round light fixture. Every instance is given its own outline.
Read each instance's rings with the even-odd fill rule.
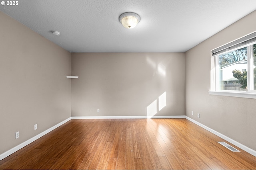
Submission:
[[[256,0],[18,0],[0,10],[70,52],[185,52],[256,10]],[[124,12],[140,23],[124,28]]]

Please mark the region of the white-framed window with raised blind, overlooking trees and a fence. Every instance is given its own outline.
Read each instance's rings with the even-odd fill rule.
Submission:
[[[211,92],[250,93],[249,98],[256,98],[256,32],[213,50],[212,57]]]

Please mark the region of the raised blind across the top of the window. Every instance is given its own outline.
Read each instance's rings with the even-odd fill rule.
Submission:
[[[232,41],[231,43],[228,43],[217,49],[212,50],[212,55],[217,55],[238,47],[246,46],[247,44],[250,44],[254,41],[256,41],[256,32],[246,35],[245,37],[242,37],[240,39]]]

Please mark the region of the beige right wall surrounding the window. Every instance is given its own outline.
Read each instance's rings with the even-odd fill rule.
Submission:
[[[213,68],[210,51],[256,31],[255,18],[254,11],[185,53],[186,115],[253,150],[256,150],[256,100],[215,96],[208,91]],[[193,116],[191,111],[195,113]],[[200,118],[196,113],[200,113]]]

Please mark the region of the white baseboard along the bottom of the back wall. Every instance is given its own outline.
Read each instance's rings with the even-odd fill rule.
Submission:
[[[175,119],[185,118],[182,116],[73,116],[71,119]]]

